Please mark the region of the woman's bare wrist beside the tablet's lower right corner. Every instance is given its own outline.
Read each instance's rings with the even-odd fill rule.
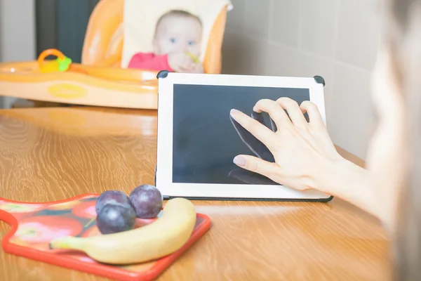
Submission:
[[[380,218],[370,171],[347,159],[340,159],[328,167],[328,175],[321,181],[321,191],[340,197],[356,207]]]

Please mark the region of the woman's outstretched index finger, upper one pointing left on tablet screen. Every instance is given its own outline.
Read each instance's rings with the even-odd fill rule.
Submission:
[[[248,117],[239,110],[232,109],[229,114],[236,122],[243,126],[244,129],[249,131],[253,136],[255,136],[255,138],[265,144],[269,150],[274,148],[274,142],[276,141],[275,133],[267,128],[267,126],[260,124],[260,122]]]

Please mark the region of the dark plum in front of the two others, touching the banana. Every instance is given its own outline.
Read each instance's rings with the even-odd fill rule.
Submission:
[[[136,213],[130,204],[106,204],[97,214],[96,223],[102,234],[120,233],[135,226]]]

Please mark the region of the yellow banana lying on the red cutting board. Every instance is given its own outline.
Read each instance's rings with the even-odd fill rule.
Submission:
[[[189,240],[195,224],[192,202],[174,198],[163,207],[162,216],[147,226],[93,237],[60,237],[50,242],[50,248],[83,251],[101,263],[142,263],[180,249]]]

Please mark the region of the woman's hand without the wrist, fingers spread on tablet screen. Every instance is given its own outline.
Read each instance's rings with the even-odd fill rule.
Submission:
[[[265,99],[259,100],[253,110],[269,113],[277,131],[237,110],[232,110],[231,115],[267,146],[275,162],[239,155],[234,158],[234,163],[291,188],[323,189],[323,174],[344,159],[330,140],[316,105],[305,101],[299,106],[290,98]],[[305,112],[309,115],[309,122],[304,117]]]

